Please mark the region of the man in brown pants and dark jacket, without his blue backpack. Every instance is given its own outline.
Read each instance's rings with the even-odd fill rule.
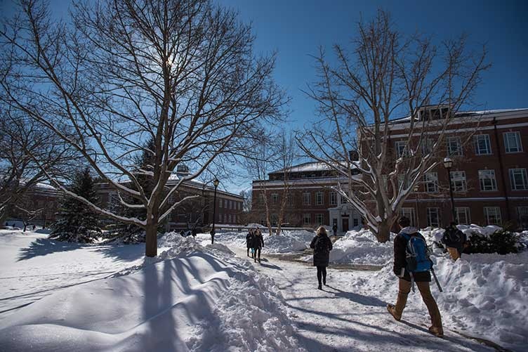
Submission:
[[[399,280],[399,291],[396,300],[396,304],[388,304],[387,310],[395,318],[395,320],[400,321],[402,319],[402,313],[407,304],[407,296],[411,291],[411,279],[416,282],[418,290],[423,299],[423,303],[427,306],[429,315],[431,317],[432,325],[429,327],[429,332],[434,334],[437,337],[444,336],[444,330],[442,328],[442,317],[440,316],[440,311],[438,311],[438,306],[436,304],[433,295],[431,294],[429,282],[431,281],[430,270],[425,270],[421,272],[411,273],[407,270],[407,245],[411,241],[412,237],[421,238],[424,242],[425,239],[421,233],[418,233],[416,228],[411,227],[411,221],[406,217],[400,218],[398,221],[400,225],[400,233],[394,239],[394,266],[392,270],[395,275],[400,278]]]

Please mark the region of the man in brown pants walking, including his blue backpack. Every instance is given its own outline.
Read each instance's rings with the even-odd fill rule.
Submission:
[[[411,221],[406,217],[400,218],[398,225],[401,230],[394,239],[394,266],[392,270],[399,278],[399,290],[396,304],[388,304],[387,310],[395,320],[400,321],[405,304],[407,304],[407,296],[411,291],[411,287],[413,287],[414,291],[414,282],[416,282],[423,303],[427,306],[431,318],[432,325],[429,327],[429,332],[437,337],[443,337],[442,317],[429,287],[432,263],[429,264],[428,270],[421,271],[416,269],[423,263],[420,258],[425,256],[425,260],[430,261],[425,238],[423,238],[423,235],[416,228],[410,226]],[[423,249],[424,246],[425,249]],[[420,252],[423,251],[425,251],[425,254],[421,255]],[[411,253],[416,254],[416,256],[411,256]]]

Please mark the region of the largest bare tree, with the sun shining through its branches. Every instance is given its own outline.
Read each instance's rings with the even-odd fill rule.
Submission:
[[[145,254],[156,256],[158,224],[189,198],[169,202],[180,185],[221,155],[243,155],[245,136],[280,116],[275,56],[256,57],[251,28],[209,0],[79,2],[71,25],[52,22],[41,4],[20,1],[19,15],[0,33],[2,95],[73,145],[121,204],[145,216],[98,207],[48,175],[55,185],[145,229]],[[138,152],[153,162],[133,170]],[[169,187],[178,164],[193,171]],[[150,194],[138,176],[152,179]]]

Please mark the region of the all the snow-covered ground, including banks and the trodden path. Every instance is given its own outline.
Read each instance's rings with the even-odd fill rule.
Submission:
[[[144,259],[143,245],[0,230],[0,350],[489,351],[458,332],[528,348],[528,252],[454,263],[437,251],[444,292],[432,290],[446,329],[437,339],[426,332],[419,294],[409,296],[406,322],[386,312],[397,294],[391,241],[379,244],[368,231],[336,241],[334,262],[383,269],[330,267],[329,287],[319,291],[310,263],[267,256],[299,253],[313,233],[265,234],[263,262],[254,266],[245,260],[245,235],[219,233],[210,245],[207,234],[167,233],[161,254]]]

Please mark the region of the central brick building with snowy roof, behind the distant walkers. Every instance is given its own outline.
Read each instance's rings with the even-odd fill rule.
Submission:
[[[277,225],[283,197],[287,198],[284,225],[313,228],[335,223],[341,232],[361,223],[361,216],[356,209],[332,189],[338,182],[346,189],[348,181],[337,178],[326,164],[308,162],[271,172],[268,176],[268,180],[253,181],[252,186],[251,212],[261,224],[266,223],[265,197],[268,199],[272,225]]]

